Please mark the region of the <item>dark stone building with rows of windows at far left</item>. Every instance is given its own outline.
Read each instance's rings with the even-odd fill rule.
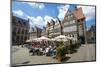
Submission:
[[[12,16],[12,45],[22,45],[29,39],[29,20]]]

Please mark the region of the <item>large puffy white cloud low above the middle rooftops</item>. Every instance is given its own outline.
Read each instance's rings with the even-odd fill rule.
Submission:
[[[46,26],[47,22],[50,22],[51,19],[53,19],[54,21],[56,21],[55,18],[51,17],[51,16],[45,16],[45,17],[41,17],[41,16],[37,16],[37,17],[32,17],[32,16],[27,16],[27,18],[30,19],[30,25],[31,26],[38,26],[38,27],[43,27]]]

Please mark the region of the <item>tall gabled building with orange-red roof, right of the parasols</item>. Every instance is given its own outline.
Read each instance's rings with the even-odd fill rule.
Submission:
[[[64,35],[71,36],[84,43],[84,23],[85,16],[82,8],[76,8],[74,11],[67,11],[63,24]]]

